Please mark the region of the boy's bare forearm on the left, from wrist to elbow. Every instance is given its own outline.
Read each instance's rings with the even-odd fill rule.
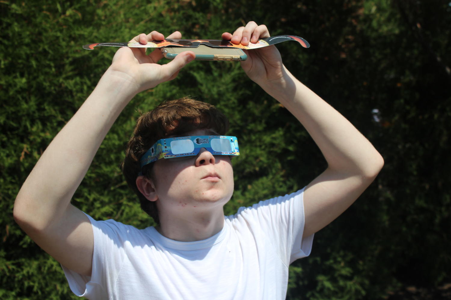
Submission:
[[[106,133],[133,97],[133,87],[108,70],[78,112],[56,135],[23,184],[14,204],[16,219],[38,227],[69,206]]]

